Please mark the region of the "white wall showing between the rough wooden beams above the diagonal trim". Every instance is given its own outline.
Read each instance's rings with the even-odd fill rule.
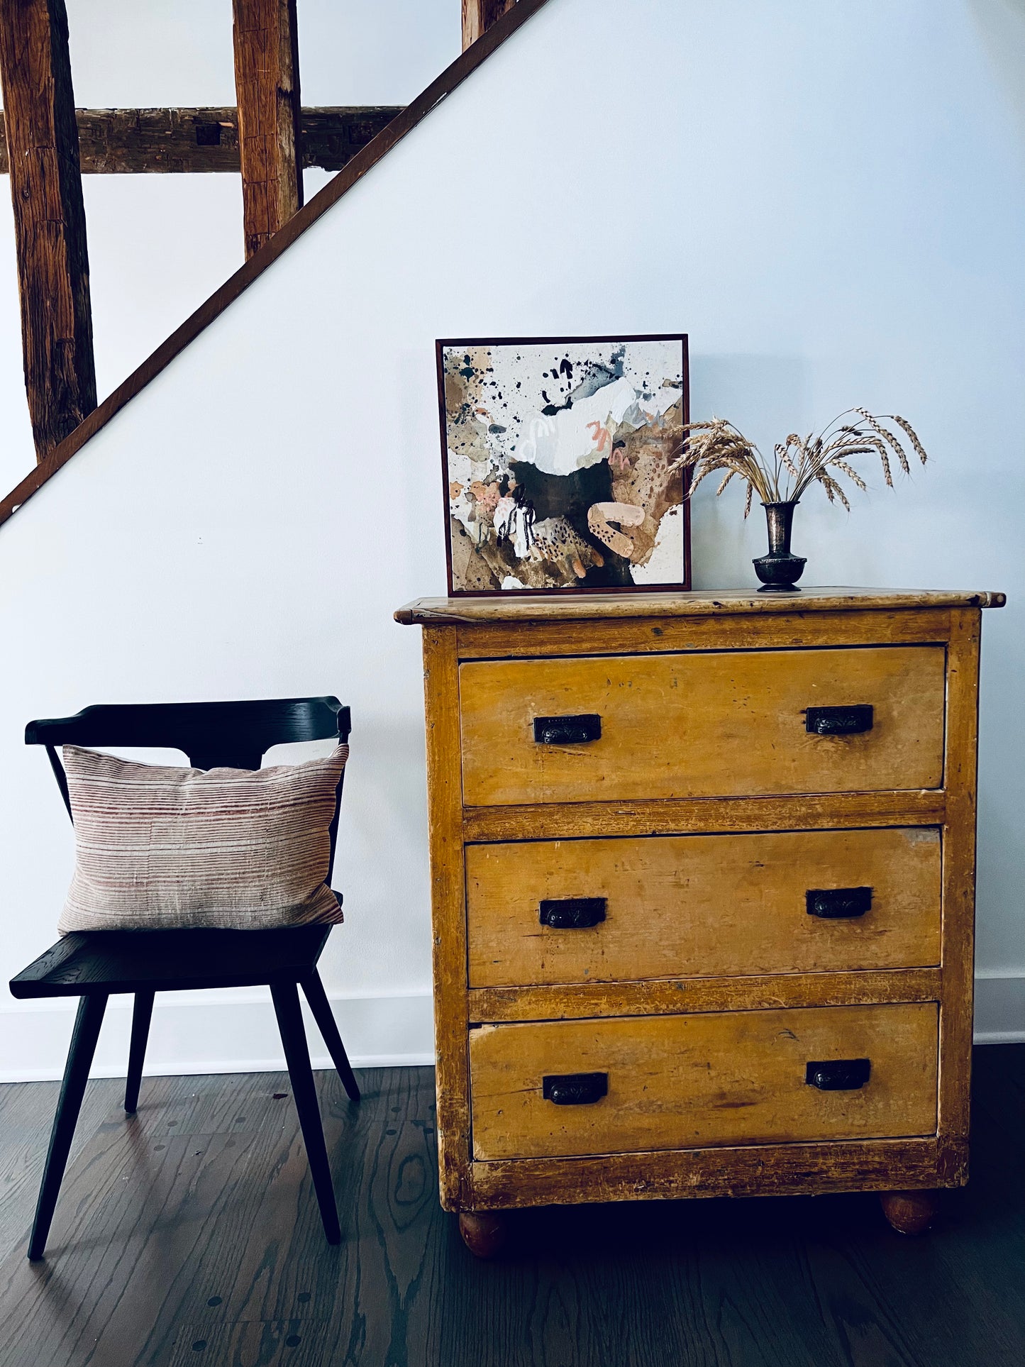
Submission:
[[[235,104],[231,0],[67,0],[79,108]],[[459,0],[299,0],[303,104],[407,104],[461,46]],[[329,174],[305,172],[306,195]],[[100,398],[242,265],[235,175],[83,179]],[[0,176],[0,492],[36,463]]]

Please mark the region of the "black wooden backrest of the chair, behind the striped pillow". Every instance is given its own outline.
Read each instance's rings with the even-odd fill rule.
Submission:
[[[74,716],[29,722],[26,745],[45,745],[53,775],[71,815],[57,745],[146,746],[183,750],[193,768],[260,768],[272,745],[348,740],[350,714],[336,697],[284,697],[245,703],[112,703],[85,707]],[[343,774],[344,778],[344,774]],[[338,813],[331,823],[335,863]]]

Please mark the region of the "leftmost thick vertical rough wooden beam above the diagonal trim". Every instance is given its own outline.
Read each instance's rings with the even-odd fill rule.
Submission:
[[[82,176],[64,0],[3,0],[25,388],[42,459],[96,407]]]

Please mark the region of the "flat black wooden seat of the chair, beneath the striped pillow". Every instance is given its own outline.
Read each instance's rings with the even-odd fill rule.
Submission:
[[[11,995],[85,997],[295,983],[316,966],[331,925],[262,931],[81,931],[11,979]]]

